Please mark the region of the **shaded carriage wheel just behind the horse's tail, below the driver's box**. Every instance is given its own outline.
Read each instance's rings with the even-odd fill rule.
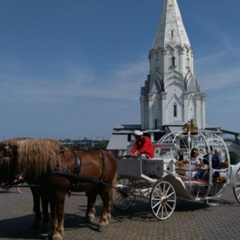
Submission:
[[[131,180],[124,177],[119,178],[116,199],[113,201],[113,206],[120,211],[128,210],[136,199],[136,196],[132,194],[133,191]]]

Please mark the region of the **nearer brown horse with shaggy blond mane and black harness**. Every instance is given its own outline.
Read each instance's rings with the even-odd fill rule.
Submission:
[[[64,201],[68,192],[86,192],[86,218],[95,218],[97,195],[103,201],[99,227],[111,218],[111,200],[117,184],[117,162],[104,150],[74,152],[49,139],[18,141],[12,149],[14,174],[39,177],[41,189],[47,194],[51,209],[49,239],[62,239],[64,233]]]

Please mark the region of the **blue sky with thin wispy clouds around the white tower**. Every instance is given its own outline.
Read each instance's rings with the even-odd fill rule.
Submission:
[[[178,0],[207,124],[240,131],[240,1]],[[0,139],[140,123],[162,0],[0,0]]]

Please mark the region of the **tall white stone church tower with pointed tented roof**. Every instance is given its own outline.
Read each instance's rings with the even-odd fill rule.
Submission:
[[[193,119],[205,128],[205,93],[194,75],[194,52],[177,0],[163,0],[149,52],[150,72],[141,88],[141,129],[182,125]]]

